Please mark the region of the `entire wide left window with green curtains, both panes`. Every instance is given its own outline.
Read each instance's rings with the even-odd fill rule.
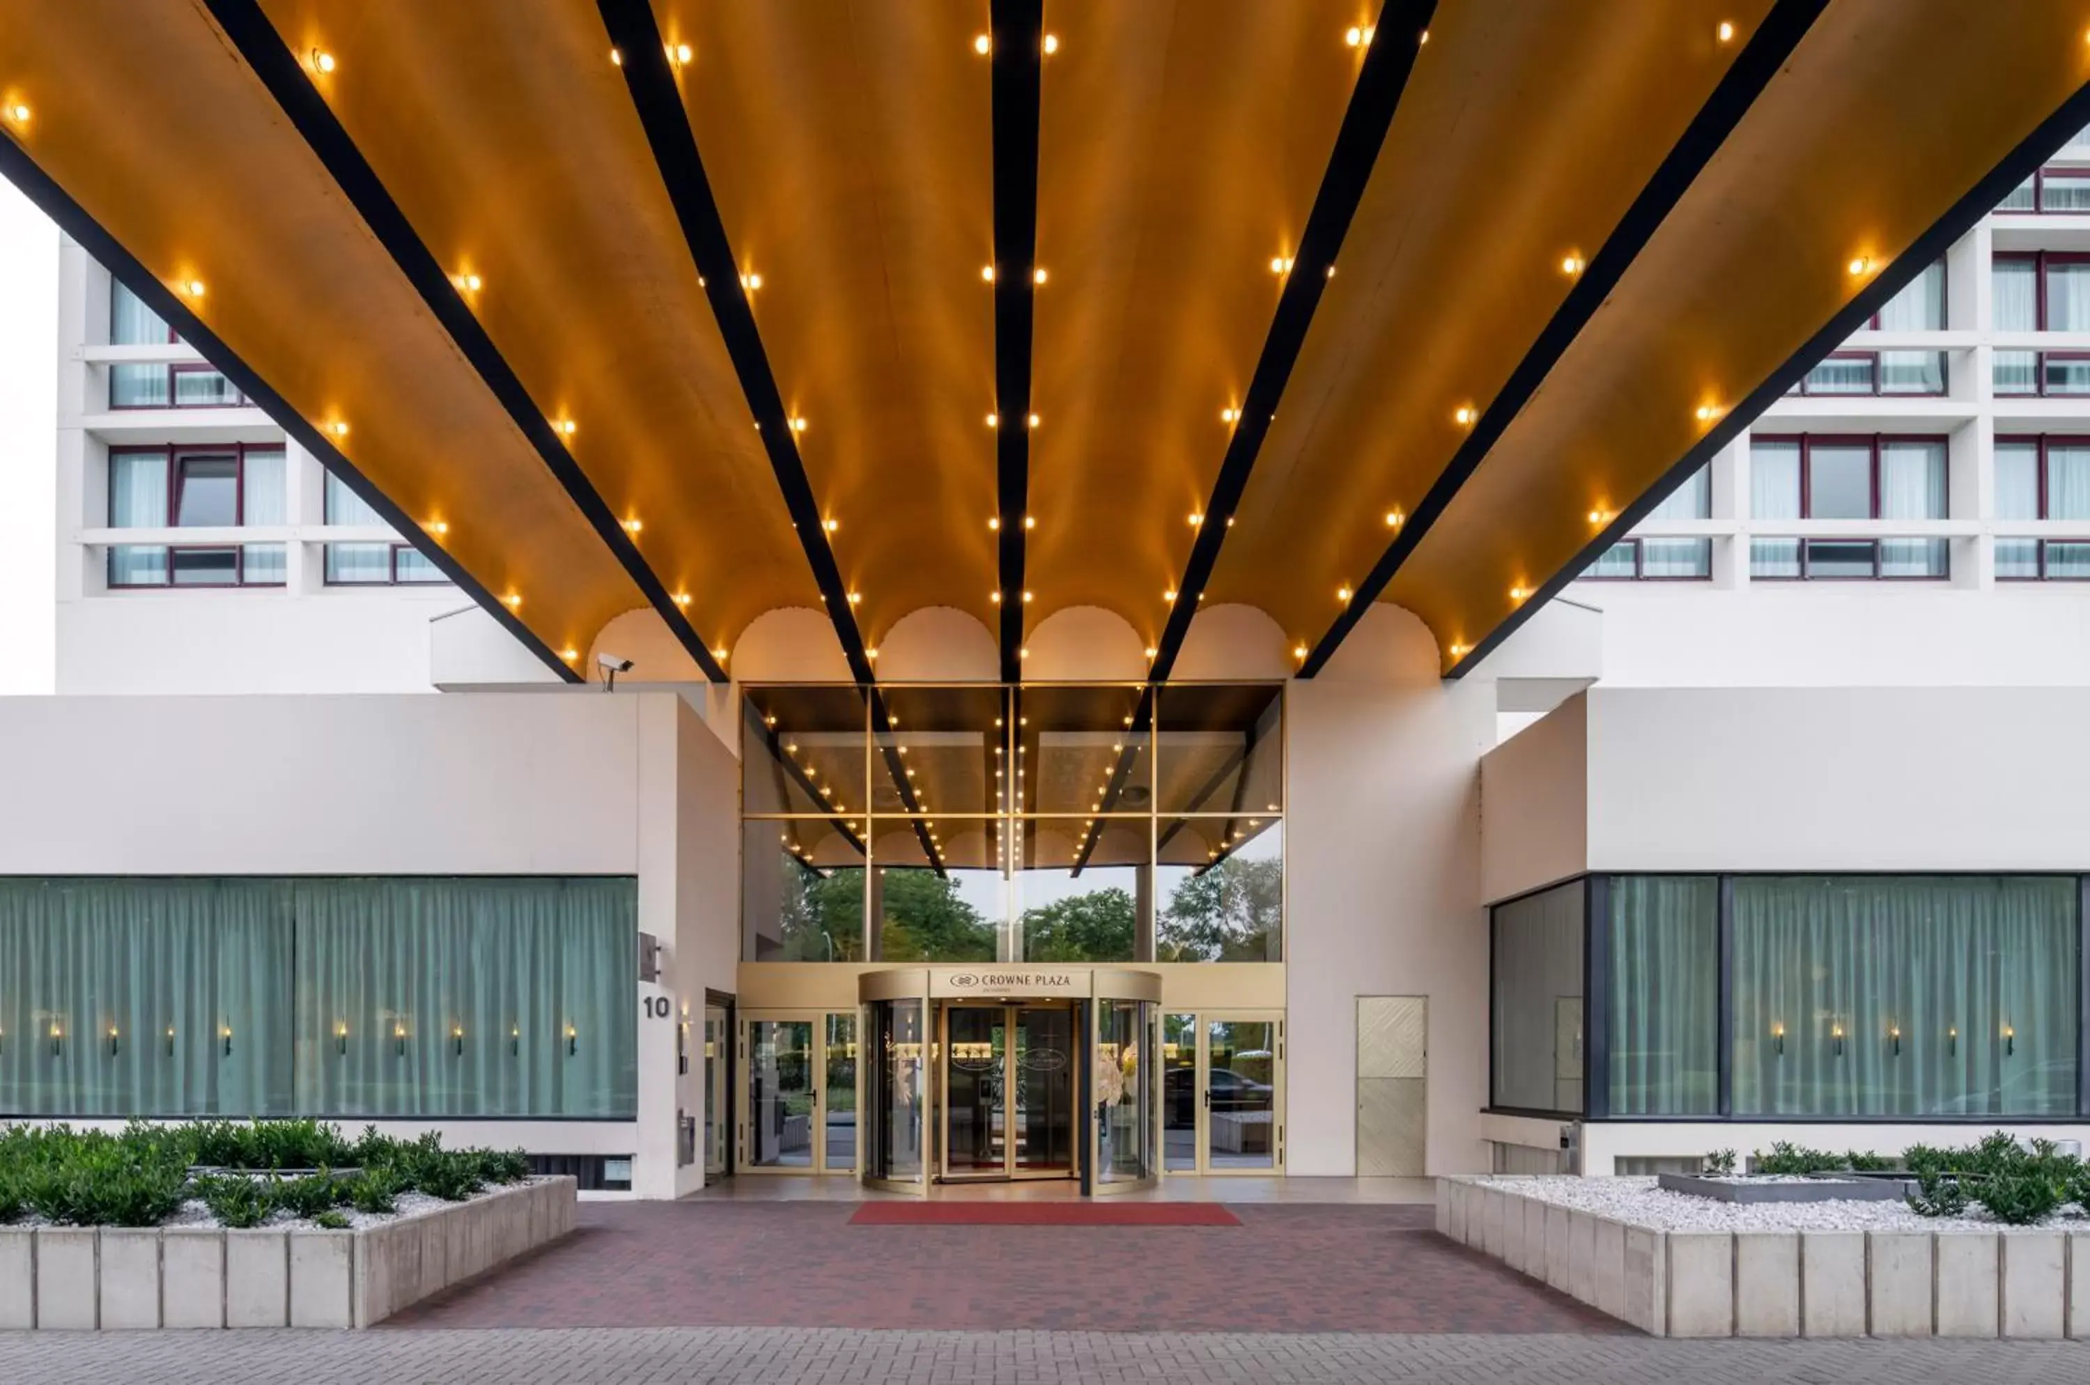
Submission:
[[[0,879],[10,1116],[637,1109],[631,879]]]

